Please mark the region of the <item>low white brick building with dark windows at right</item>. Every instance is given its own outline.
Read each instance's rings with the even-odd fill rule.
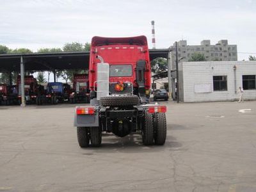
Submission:
[[[183,62],[179,67],[179,96],[184,102],[256,99],[256,61]]]

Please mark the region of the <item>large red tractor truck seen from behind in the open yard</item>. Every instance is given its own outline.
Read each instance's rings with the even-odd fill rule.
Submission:
[[[124,137],[140,133],[144,145],[164,145],[166,106],[149,104],[147,38],[92,38],[90,106],[77,106],[74,126],[80,147],[99,147],[102,132]]]

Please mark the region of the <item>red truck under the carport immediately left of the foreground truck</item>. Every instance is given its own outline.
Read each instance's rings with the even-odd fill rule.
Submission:
[[[70,103],[90,102],[88,74],[74,74]]]

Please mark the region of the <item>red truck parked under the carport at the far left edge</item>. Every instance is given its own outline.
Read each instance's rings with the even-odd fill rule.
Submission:
[[[17,104],[17,88],[15,85],[0,84],[0,104],[6,106],[10,104]]]

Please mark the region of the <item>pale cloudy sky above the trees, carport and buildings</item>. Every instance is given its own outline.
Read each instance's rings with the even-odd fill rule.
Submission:
[[[157,48],[227,39],[238,60],[256,56],[256,0],[0,0],[0,45],[37,51],[93,36],[145,35],[152,47],[151,20]]]

